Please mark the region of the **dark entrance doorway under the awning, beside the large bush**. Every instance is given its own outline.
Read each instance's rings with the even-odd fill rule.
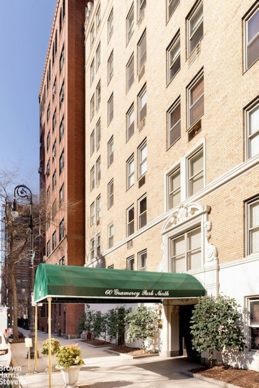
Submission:
[[[196,358],[197,352],[192,349],[190,319],[194,305],[179,306],[179,355]]]

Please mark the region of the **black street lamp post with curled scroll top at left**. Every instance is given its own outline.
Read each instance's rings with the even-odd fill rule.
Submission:
[[[26,199],[29,201],[30,204],[30,282],[29,282],[29,292],[28,292],[28,298],[31,298],[31,293],[33,291],[34,287],[34,241],[33,241],[33,219],[32,219],[32,192],[29,189],[29,187],[25,186],[24,184],[20,184],[15,187],[14,189],[14,201],[12,204],[11,214],[13,217],[18,217],[19,212],[17,210],[17,201],[16,198]],[[31,301],[29,303],[30,305],[30,333],[29,337],[32,339],[32,351],[31,356],[34,357],[34,343],[35,343],[35,321],[34,321],[34,307],[31,304]]]

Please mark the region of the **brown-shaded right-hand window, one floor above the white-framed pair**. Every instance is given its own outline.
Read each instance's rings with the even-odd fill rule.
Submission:
[[[189,127],[204,113],[204,83],[203,74],[198,75],[188,87]]]

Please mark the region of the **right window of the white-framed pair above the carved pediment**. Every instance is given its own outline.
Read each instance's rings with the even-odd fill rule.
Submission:
[[[193,196],[204,187],[203,149],[188,158],[188,194]]]

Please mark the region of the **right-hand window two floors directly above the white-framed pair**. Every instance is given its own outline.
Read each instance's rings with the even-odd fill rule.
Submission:
[[[188,22],[188,54],[190,55],[203,37],[203,8],[199,2],[187,19]]]

